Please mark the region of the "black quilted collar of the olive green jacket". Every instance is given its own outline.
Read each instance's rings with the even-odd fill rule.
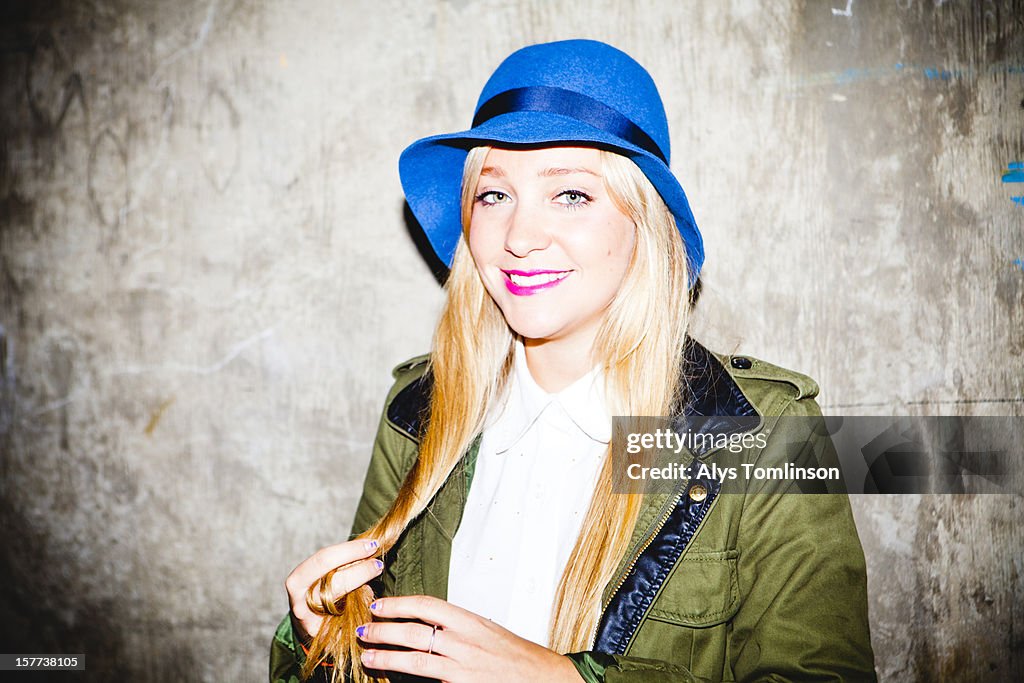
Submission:
[[[683,347],[682,373],[688,401],[674,413],[677,417],[715,418],[701,431],[745,431],[750,429],[750,419],[759,417],[721,361],[691,338],[687,338]],[[432,388],[433,374],[428,371],[399,391],[387,407],[391,424],[417,441],[426,426]]]

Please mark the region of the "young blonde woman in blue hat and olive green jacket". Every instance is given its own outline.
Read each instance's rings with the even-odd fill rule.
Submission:
[[[780,420],[820,415],[812,380],[686,335],[703,249],[646,71],[523,48],[399,170],[447,302],[394,371],[352,540],[286,582],[271,680],[873,680],[845,496],[614,486],[616,415],[762,435],[703,463],[835,456]]]

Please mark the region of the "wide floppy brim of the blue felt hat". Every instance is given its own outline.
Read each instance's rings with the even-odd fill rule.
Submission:
[[[703,263],[703,241],[686,193],[671,169],[646,150],[582,123],[548,112],[514,112],[456,133],[432,135],[409,145],[398,159],[398,175],[413,214],[437,257],[452,264],[462,233],[462,173],[471,147],[580,144],[608,148],[631,159],[654,185],[676,218],[686,245],[692,286]]]

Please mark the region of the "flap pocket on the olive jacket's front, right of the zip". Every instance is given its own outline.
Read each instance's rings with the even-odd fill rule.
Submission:
[[[669,574],[648,615],[706,628],[723,624],[739,608],[736,550],[686,553]]]

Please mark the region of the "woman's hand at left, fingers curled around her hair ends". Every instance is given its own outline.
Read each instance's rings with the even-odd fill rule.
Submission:
[[[292,627],[302,641],[319,631],[324,617],[306,604],[306,593],[310,587],[330,571],[333,571],[327,595],[324,597],[337,602],[384,569],[384,563],[374,559],[379,544],[376,541],[348,541],[336,546],[321,548],[310,557],[292,569],[285,580],[288,602],[292,609]]]

